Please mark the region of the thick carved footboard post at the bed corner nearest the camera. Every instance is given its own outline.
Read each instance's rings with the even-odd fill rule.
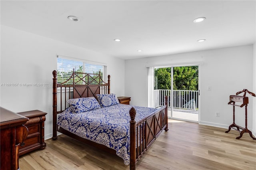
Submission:
[[[135,130],[136,130],[136,110],[132,107],[130,109],[130,170],[136,169],[136,142],[135,142]]]

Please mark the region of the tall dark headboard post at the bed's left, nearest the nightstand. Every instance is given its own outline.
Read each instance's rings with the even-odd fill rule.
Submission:
[[[57,128],[56,128],[56,123],[57,123],[57,71],[54,70],[52,71],[53,75],[53,84],[52,84],[52,96],[53,96],[53,103],[52,103],[52,139],[56,140],[58,138],[57,136]]]

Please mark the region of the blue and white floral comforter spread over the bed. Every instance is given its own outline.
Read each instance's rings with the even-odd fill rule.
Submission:
[[[104,144],[130,163],[130,109],[136,109],[135,121],[148,117],[158,109],[131,105],[113,105],[73,114],[70,107],[58,116],[57,124],[82,138]]]

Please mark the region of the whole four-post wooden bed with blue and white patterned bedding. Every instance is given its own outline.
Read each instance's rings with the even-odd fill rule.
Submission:
[[[64,82],[53,71],[53,136],[57,131],[116,154],[130,169],[159,134],[168,130],[167,96],[158,109],[120,104],[110,93],[110,75],[73,73]]]

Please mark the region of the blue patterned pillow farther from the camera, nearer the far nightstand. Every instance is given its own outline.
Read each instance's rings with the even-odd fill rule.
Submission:
[[[119,104],[115,94],[100,94],[97,97],[102,108]]]

